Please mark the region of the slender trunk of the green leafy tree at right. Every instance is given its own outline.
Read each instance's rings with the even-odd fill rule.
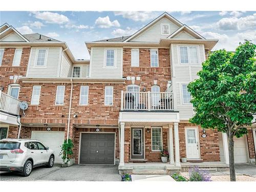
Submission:
[[[229,153],[229,172],[230,181],[236,181],[236,172],[234,170],[234,140],[233,133],[228,135],[228,153]]]

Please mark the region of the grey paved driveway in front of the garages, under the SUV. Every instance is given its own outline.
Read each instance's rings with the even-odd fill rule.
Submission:
[[[62,168],[37,167],[29,177],[14,172],[0,172],[1,181],[121,181],[118,166],[114,165],[73,165]]]

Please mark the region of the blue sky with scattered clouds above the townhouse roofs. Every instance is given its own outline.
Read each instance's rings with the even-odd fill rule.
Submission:
[[[22,34],[40,33],[67,42],[76,59],[90,59],[85,41],[132,35],[164,11],[1,11]],[[168,12],[168,11],[166,11]],[[213,50],[234,51],[244,39],[256,43],[256,12],[168,12],[207,39],[219,39]]]

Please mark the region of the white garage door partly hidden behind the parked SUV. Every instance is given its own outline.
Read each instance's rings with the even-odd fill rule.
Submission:
[[[62,163],[62,159],[59,156],[61,152],[61,145],[64,142],[65,132],[41,132],[32,131],[31,139],[41,141],[43,144],[51,148],[55,154],[55,163]]]

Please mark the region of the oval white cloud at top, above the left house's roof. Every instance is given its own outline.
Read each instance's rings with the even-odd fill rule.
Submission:
[[[32,14],[34,14],[35,18],[44,20],[46,23],[49,24],[64,24],[69,22],[69,18],[67,16],[49,11],[34,11],[32,12]]]

